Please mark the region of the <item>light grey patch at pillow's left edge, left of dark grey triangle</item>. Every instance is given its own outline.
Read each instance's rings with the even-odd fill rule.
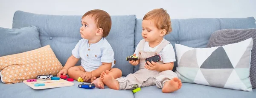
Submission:
[[[199,68],[198,62],[196,59],[196,49],[186,51],[180,57],[179,67]]]

